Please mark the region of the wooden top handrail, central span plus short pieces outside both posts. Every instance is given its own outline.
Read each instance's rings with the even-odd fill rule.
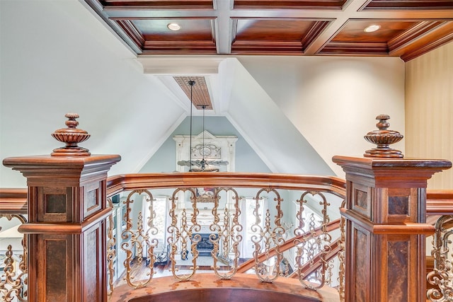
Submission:
[[[303,183],[305,190],[329,190],[343,197],[345,181],[335,177],[285,175],[264,173],[152,173],[125,174],[108,178],[108,197],[125,190],[149,187],[196,187],[205,185],[227,187],[275,187],[294,189]],[[27,214],[26,188],[0,188],[0,213]],[[428,190],[426,200],[428,215],[453,214],[453,190]]]

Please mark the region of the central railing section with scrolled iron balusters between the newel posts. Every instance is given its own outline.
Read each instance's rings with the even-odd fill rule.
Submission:
[[[338,178],[159,173],[113,177],[107,187],[110,200],[119,201],[115,207],[122,221],[115,223],[115,212],[109,219],[110,289],[118,277],[115,269],[120,271],[118,259],[125,258],[120,279],[140,288],[153,281],[157,255],[168,250],[171,274],[180,281],[200,272],[204,253],[218,279],[242,272],[264,282],[291,276],[305,288],[327,284],[343,292],[344,233],[338,226],[345,183]],[[157,196],[168,202],[168,219],[156,211]],[[147,279],[134,275],[137,266],[147,269]]]

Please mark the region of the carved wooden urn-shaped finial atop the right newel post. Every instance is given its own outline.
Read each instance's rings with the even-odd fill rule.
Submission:
[[[391,149],[389,144],[397,143],[403,139],[403,135],[397,131],[387,130],[390,127],[390,123],[387,120],[390,120],[389,115],[378,115],[376,117],[377,122],[376,127],[379,130],[374,130],[368,132],[365,135],[365,140],[369,141],[372,144],[377,144],[377,147],[365,151],[363,156],[367,157],[381,157],[381,158],[403,158],[403,153],[399,150]]]

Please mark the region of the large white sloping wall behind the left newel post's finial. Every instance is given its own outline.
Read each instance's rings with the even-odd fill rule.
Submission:
[[[77,112],[91,153],[119,153],[133,172],[183,110],[79,1],[0,1],[0,158],[50,154],[50,134]],[[156,114],[157,113],[157,114]],[[156,118],[158,117],[158,118]],[[0,187],[25,187],[1,165]]]

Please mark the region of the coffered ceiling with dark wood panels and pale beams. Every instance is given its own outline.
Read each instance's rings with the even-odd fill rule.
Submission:
[[[84,0],[138,55],[347,55],[408,61],[453,40],[452,0]],[[169,30],[176,23],[180,30]],[[366,33],[369,25],[379,30]]]

